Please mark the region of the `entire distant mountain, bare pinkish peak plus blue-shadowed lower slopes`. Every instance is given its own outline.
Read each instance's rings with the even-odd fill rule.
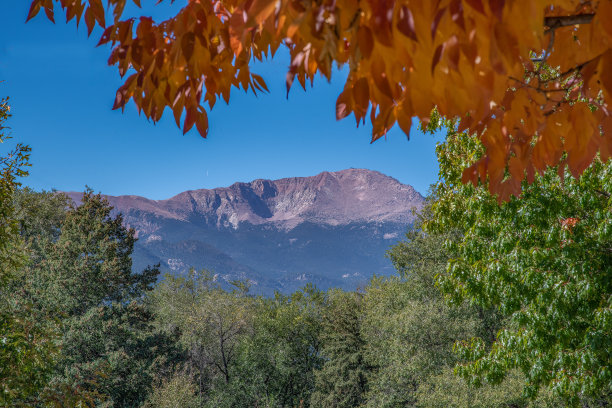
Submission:
[[[68,193],[78,201],[80,193]],[[392,272],[384,257],[423,197],[381,173],[349,169],[193,190],[167,200],[107,196],[138,242],[134,268],[206,268],[252,291],[290,292],[308,282],[354,289]]]

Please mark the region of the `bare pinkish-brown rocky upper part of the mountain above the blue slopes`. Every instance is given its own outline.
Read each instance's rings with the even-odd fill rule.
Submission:
[[[81,193],[67,194],[78,200]],[[410,208],[420,207],[423,202],[412,186],[366,169],[277,180],[255,179],[228,187],[187,190],[163,200],[136,195],[105,197],[111,205],[123,210],[124,215],[125,210],[137,209],[184,221],[198,214],[217,227],[236,229],[240,222],[253,225],[271,222],[287,230],[304,221],[329,225],[358,221],[410,222]],[[386,202],[381,203],[381,198]],[[402,205],[405,203],[408,205]]]

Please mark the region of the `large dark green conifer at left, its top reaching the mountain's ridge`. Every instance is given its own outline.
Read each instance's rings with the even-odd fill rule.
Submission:
[[[177,355],[143,302],[159,271],[132,272],[134,231],[100,195],[87,191],[76,206],[61,194],[25,190],[16,207],[29,263],[12,297],[59,321],[61,351],[38,398],[53,406],[138,406],[155,372]]]

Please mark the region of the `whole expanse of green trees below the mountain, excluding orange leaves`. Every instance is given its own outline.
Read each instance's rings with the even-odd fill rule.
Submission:
[[[19,187],[18,144],[2,160],[0,404],[609,406],[612,163],[550,169],[500,205],[460,180],[482,145],[434,123],[440,180],[388,251],[396,274],[274,297],[133,272],[121,215],[91,190],[76,206]]]

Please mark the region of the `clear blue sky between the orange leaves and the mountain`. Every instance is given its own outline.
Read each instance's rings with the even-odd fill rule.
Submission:
[[[331,84],[317,79],[306,92],[294,87],[287,100],[289,61],[278,54],[254,66],[269,94],[233,90],[230,104],[221,101],[210,113],[208,139],[195,128],[183,136],[170,111],[154,125],[131,105],[123,114],[111,110],[122,82],[106,64],[109,48],[95,48],[99,31],[88,39],[84,25],[77,31],[60,16],[54,25],[43,13],[25,24],[30,1],[10,3],[0,16],[0,96],[11,98],[12,136],[33,149],[24,184],[34,189],[81,191],[89,185],[105,194],[162,199],[235,181],[349,167],[378,170],[423,194],[436,180],[439,136],[414,129],[407,141],[396,127],[387,140],[370,144],[370,126],[357,129],[353,116],[335,120],[342,72]],[[154,18],[167,12],[146,10]],[[0,145],[0,153],[7,148]]]

